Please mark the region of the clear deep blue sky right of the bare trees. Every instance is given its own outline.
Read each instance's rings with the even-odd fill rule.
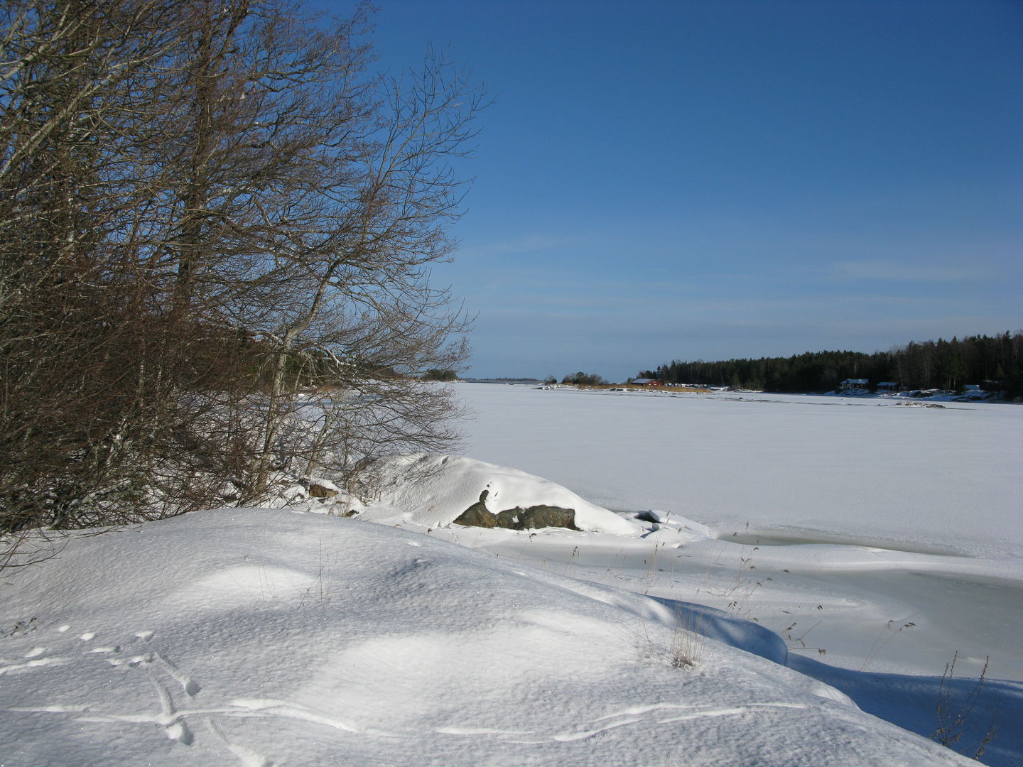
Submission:
[[[470,375],[1023,327],[1023,3],[379,5],[381,66],[449,46],[495,99],[435,272]]]

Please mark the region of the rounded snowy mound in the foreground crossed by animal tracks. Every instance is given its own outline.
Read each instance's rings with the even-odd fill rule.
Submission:
[[[674,668],[664,603],[356,520],[201,512],[3,581],[5,767],[968,763],[723,643]]]

